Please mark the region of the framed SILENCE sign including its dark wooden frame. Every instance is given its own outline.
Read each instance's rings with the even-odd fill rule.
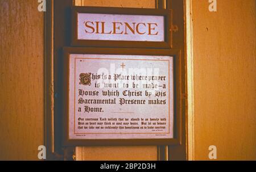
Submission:
[[[171,11],[73,7],[72,45],[171,48]]]

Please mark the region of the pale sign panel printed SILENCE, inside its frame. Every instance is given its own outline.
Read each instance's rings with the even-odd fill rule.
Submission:
[[[77,14],[78,40],[164,41],[164,16]]]

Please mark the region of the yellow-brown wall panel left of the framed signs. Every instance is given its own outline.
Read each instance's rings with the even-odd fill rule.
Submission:
[[[0,1],[0,160],[37,160],[43,145],[43,13]]]

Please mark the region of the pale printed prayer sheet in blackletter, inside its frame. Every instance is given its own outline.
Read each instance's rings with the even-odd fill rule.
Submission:
[[[69,139],[173,138],[173,57],[69,56]]]

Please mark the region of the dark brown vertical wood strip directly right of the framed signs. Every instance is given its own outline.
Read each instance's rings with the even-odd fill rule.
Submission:
[[[172,22],[176,27],[176,31],[172,32],[172,48],[180,50],[179,64],[177,69],[180,72],[179,76],[179,93],[180,100],[177,105],[176,115],[181,115],[181,128],[180,128],[180,145],[168,146],[168,160],[187,160],[187,66],[185,58],[185,1],[186,0],[166,0],[167,10],[172,10]]]

